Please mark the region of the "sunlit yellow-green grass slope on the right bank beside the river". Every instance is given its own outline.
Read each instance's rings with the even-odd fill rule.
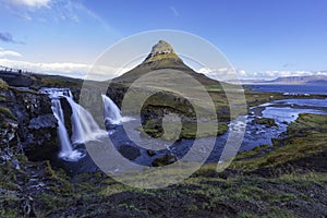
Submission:
[[[257,158],[246,158],[253,155],[251,150],[241,153],[230,168],[245,171],[263,167],[274,168],[327,150],[327,116],[300,114],[298,120],[290,124],[287,133],[288,137],[282,141],[283,146],[274,146],[266,155]]]

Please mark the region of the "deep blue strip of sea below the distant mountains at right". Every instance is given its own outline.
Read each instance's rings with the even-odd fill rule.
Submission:
[[[310,85],[244,85],[256,92],[271,93],[294,93],[294,94],[318,94],[327,95],[326,84],[310,84]]]

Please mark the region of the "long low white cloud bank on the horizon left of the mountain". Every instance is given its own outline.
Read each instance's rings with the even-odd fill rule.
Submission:
[[[0,59],[0,65],[35,73],[47,73],[97,81],[110,80],[131,70],[129,68],[123,69],[107,65],[96,65],[93,68],[93,65],[84,63],[34,63],[9,59]]]

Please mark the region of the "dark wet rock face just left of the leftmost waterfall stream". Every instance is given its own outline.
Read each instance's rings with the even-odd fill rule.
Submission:
[[[17,119],[15,137],[31,160],[51,159],[58,153],[57,119],[47,95],[12,88],[7,105]]]

